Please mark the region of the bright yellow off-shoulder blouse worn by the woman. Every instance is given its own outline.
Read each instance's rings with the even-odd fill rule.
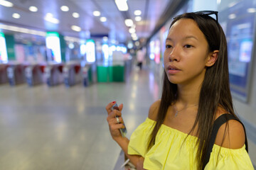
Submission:
[[[144,169],[196,170],[197,137],[187,135],[169,126],[161,125],[156,135],[155,145],[148,152],[146,151],[149,135],[154,128],[154,123],[154,120],[146,118],[144,123],[139,125],[132,133],[128,154],[137,154],[144,157]],[[220,154],[218,155],[219,151]],[[228,149],[214,145],[205,169],[250,170],[254,168],[245,150],[245,145],[240,149]]]

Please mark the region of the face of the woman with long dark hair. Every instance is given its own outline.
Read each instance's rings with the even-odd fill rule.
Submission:
[[[169,30],[164,69],[171,83],[201,83],[206,73],[208,42],[195,21],[182,18]]]

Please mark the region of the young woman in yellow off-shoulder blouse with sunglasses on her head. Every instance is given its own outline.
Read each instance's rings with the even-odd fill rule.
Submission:
[[[115,102],[106,106],[112,138],[137,169],[253,169],[245,129],[233,110],[227,42],[217,14],[174,18],[161,100],[151,105],[130,140],[119,132],[123,105],[119,111],[111,110]]]

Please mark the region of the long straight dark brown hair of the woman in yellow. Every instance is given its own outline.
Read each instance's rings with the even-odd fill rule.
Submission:
[[[209,52],[219,50],[218,59],[215,64],[213,64],[212,67],[206,68],[206,75],[203,80],[198,101],[198,114],[193,128],[188,133],[188,135],[191,134],[191,132],[195,130],[196,125],[198,125],[198,130],[196,131],[198,137],[196,161],[198,162],[198,169],[202,169],[218,106],[224,108],[228,113],[235,115],[228,76],[227,41],[223,29],[214,18],[196,13],[184,13],[181,16],[177,16],[171,23],[171,26],[181,18],[190,18],[197,23],[198,28],[206,37]],[[154,145],[156,134],[164,123],[169,106],[175,103],[178,98],[177,91],[177,85],[172,84],[164,72],[161,103],[156,118],[156,125],[149,137],[148,149]],[[237,116],[235,116],[235,118],[237,118]]]

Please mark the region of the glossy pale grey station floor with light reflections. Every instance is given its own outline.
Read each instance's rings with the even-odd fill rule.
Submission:
[[[1,85],[0,169],[113,169],[120,149],[110,137],[105,106],[124,103],[129,137],[159,98],[158,81],[144,69],[126,83],[87,88]]]

